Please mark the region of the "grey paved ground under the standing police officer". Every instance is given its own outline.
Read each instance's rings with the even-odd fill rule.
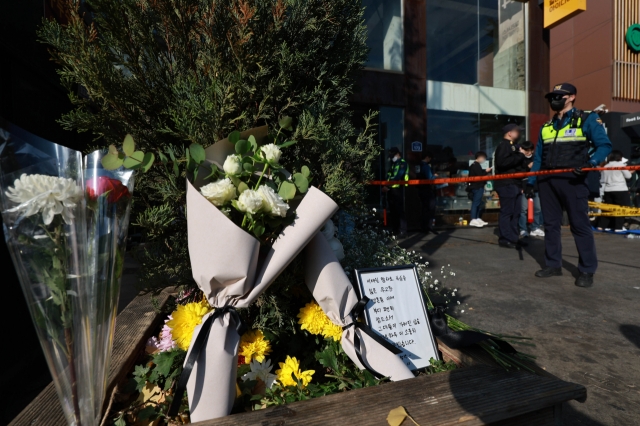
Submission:
[[[434,270],[451,265],[460,318],[479,328],[535,339],[526,352],[563,380],[587,387],[584,404],[564,409],[565,425],[640,424],[640,240],[596,235],[595,286],[576,287],[578,255],[563,230],[564,276],[540,280],[542,239],[522,252],[500,248],[497,229],[413,234],[401,245],[421,251]],[[455,284],[454,284],[455,283]]]

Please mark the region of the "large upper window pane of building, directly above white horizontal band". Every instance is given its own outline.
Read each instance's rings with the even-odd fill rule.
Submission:
[[[524,90],[524,4],[427,0],[427,78]]]

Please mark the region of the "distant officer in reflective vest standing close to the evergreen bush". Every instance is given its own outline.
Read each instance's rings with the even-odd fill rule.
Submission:
[[[400,155],[398,148],[389,149],[389,160],[391,168],[387,173],[388,181],[409,180],[409,166]],[[404,214],[404,188],[406,185],[395,184],[391,187],[382,188],[387,193],[387,203],[389,204],[389,222],[391,230],[400,238],[407,236],[407,219]]]

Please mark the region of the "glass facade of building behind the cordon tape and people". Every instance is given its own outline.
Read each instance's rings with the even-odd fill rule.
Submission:
[[[432,167],[440,176],[463,176],[477,151],[491,158],[504,125],[527,126],[527,3],[426,0],[426,11],[416,22],[418,14],[405,16],[406,1],[363,1],[371,49],[366,66],[378,73],[406,72],[404,55],[411,50],[403,32],[407,19],[413,28],[423,26],[426,67],[420,77],[426,80],[426,123],[419,142],[434,154]],[[399,125],[412,111],[377,107],[381,147],[404,147],[415,173],[422,153],[410,152],[413,140],[406,140],[406,125]],[[385,160],[377,171],[381,178],[388,168]],[[487,208],[497,207],[491,189],[489,184]],[[441,188],[438,195],[441,212],[470,208],[464,185]]]

